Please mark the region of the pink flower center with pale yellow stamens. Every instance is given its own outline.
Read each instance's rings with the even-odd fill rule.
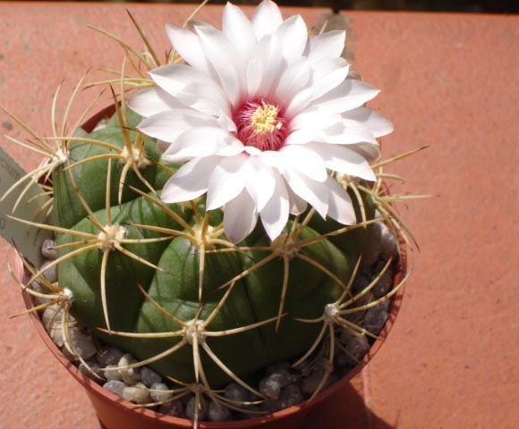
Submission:
[[[284,109],[263,98],[245,101],[233,114],[236,137],[259,150],[279,150],[288,134]]]

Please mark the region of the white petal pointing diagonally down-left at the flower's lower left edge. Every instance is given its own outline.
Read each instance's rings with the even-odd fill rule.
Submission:
[[[178,203],[199,198],[208,190],[209,175],[221,159],[221,156],[205,156],[183,164],[166,182],[161,199],[165,203]]]

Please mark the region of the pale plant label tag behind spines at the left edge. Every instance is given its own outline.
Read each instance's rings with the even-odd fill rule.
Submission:
[[[53,239],[51,231],[36,225],[21,223],[47,223],[49,197],[38,183],[27,176],[20,165],[0,147],[0,235],[34,266],[43,264],[41,245],[44,240]],[[8,195],[5,193],[12,189]],[[19,220],[17,220],[19,219]]]

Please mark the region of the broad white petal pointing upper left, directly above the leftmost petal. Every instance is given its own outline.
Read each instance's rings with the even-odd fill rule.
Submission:
[[[167,64],[149,71],[149,75],[160,88],[184,105],[212,116],[222,111],[231,115],[231,106],[222,88],[202,71],[186,64]]]

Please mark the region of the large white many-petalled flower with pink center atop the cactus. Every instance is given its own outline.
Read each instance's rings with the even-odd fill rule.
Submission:
[[[259,4],[251,21],[226,4],[222,30],[166,27],[186,64],[150,71],[157,87],[130,106],[146,119],[168,162],[186,162],[166,183],[168,203],[207,192],[207,209],[225,206],[233,242],[258,216],[271,240],[289,214],[310,203],[339,223],[355,223],[352,202],[328,170],[375,179],[368,162],[391,122],[363,107],[378,90],[346,79],[345,32],[308,38],[300,16],[283,21],[277,4]]]

